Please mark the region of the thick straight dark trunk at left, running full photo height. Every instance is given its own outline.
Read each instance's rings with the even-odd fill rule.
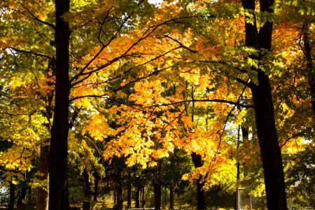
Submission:
[[[67,139],[69,132],[69,24],[62,17],[69,12],[70,0],[55,0],[55,115],[49,153],[49,209],[67,209]]]

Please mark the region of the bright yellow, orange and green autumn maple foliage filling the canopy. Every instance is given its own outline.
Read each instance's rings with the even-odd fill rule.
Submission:
[[[314,18],[309,4],[279,3],[276,13],[267,15],[243,10],[235,1],[164,1],[159,6],[71,1],[62,18],[71,29],[70,110],[79,109],[80,115],[69,135],[70,150],[96,166],[94,151],[80,141],[88,138],[104,144],[106,160],[124,156],[128,166],[155,167],[180,148],[201,155],[204,162],[186,179],[202,174],[210,186],[235,159],[246,162],[244,170],[261,167],[248,88],[259,85],[253,69],[271,80],[282,152],[305,150],[304,139],[313,139],[314,119],[309,115],[312,70],[304,67],[314,64],[303,58],[303,38],[308,33],[312,47],[314,24],[298,18]],[[51,1],[0,4],[1,138],[14,143],[1,153],[0,164],[7,169],[29,170],[36,146],[49,139],[55,90],[53,7]],[[297,14],[288,15],[290,10]],[[244,44],[244,25],[253,24],[253,15],[258,29],[274,22],[272,50]],[[252,137],[236,148],[239,125],[247,126]]]

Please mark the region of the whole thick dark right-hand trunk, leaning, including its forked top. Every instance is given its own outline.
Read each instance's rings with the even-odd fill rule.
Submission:
[[[242,0],[241,3],[245,10],[254,15],[255,0]],[[260,0],[260,11],[270,14],[274,13],[272,9],[273,3],[274,0]],[[257,50],[270,50],[272,43],[272,22],[265,22],[265,25],[260,27],[259,33],[255,24],[246,22],[245,31],[246,45],[248,47],[253,47]],[[261,61],[262,56],[253,58]],[[253,94],[255,122],[265,177],[267,207],[269,210],[286,210],[283,165],[274,120],[271,85],[269,77],[262,69],[253,68],[252,70],[258,73],[258,85],[251,83],[251,92]]]

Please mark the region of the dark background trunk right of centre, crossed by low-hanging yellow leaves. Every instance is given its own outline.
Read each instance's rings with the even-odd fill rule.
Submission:
[[[195,168],[202,167],[204,164],[202,161],[201,155],[197,155],[196,153],[191,154],[191,158],[195,165]],[[206,202],[204,200],[204,182],[202,181],[202,175],[197,179],[197,209],[206,209]]]

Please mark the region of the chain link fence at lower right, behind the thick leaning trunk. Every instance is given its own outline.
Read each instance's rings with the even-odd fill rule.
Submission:
[[[295,197],[292,197],[290,191],[292,190],[286,192],[288,210],[314,210],[311,207],[301,207],[295,202]],[[245,188],[237,188],[237,210],[267,210],[267,198],[265,196],[256,197],[248,193]]]

